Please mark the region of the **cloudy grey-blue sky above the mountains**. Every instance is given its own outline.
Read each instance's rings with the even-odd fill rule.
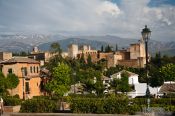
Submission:
[[[115,35],[175,41],[175,0],[0,0],[0,34]]]

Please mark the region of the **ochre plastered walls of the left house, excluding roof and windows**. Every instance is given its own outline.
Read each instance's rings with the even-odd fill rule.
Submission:
[[[33,73],[30,72],[30,67],[32,66],[32,68],[35,67],[39,67],[39,64],[30,64],[30,63],[16,63],[16,64],[4,64],[3,68],[2,68],[2,72],[4,73],[5,76],[8,75],[8,69],[12,68],[13,73],[18,76],[19,78],[19,84],[18,86],[13,89],[13,91],[9,91],[10,94],[12,95],[16,95],[18,94],[20,96],[20,98],[23,98],[23,91],[25,93],[25,82],[29,82],[29,89],[30,89],[30,94],[27,95],[25,93],[25,98],[30,97],[32,98],[33,96],[39,96],[40,95],[40,82],[41,79],[39,77],[39,68],[38,68],[38,73],[37,73],[37,68],[35,68],[35,73],[33,71]],[[22,77],[22,71],[21,68],[22,67],[27,67],[27,76],[25,76],[25,78]],[[24,86],[24,87],[23,87]],[[23,90],[24,89],[24,90]]]

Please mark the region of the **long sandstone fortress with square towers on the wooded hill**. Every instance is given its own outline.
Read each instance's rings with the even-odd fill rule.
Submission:
[[[145,46],[143,40],[138,43],[131,44],[129,48],[118,50],[115,52],[102,52],[93,50],[89,45],[82,47],[71,44],[68,48],[68,57],[78,59],[84,55],[85,60],[91,56],[92,62],[98,62],[105,59],[106,67],[115,67],[116,65],[123,65],[127,67],[143,68],[146,64]]]

